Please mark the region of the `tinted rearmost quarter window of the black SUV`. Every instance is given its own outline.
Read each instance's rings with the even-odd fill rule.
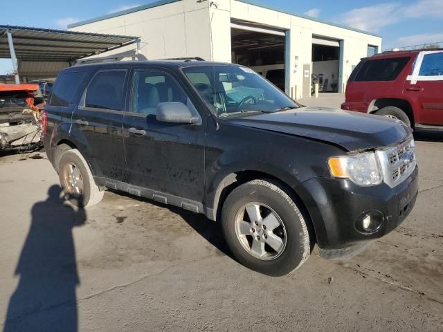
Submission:
[[[74,95],[77,92],[80,83],[82,82],[86,72],[84,71],[69,71],[60,73],[55,80],[54,89],[51,95],[50,105],[66,107],[73,101]]]

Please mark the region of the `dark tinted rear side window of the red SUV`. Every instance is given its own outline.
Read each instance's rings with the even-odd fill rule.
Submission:
[[[366,60],[354,78],[354,82],[392,81],[409,62],[410,57]]]

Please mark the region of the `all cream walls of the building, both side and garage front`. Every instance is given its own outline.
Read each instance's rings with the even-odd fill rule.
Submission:
[[[118,17],[76,26],[70,30],[141,37],[141,53],[147,59],[203,57],[230,62],[230,22],[250,21],[287,32],[287,85],[302,95],[303,65],[311,66],[312,35],[341,40],[340,64],[344,91],[352,66],[367,55],[368,44],[381,49],[381,38],[314,19],[262,8],[248,0],[181,0]],[[128,46],[127,49],[134,48]],[[121,52],[122,50],[118,50]],[[312,73],[312,68],[311,68]]]

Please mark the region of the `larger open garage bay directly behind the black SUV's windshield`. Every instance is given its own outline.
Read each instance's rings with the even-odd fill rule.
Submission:
[[[232,62],[251,67],[285,90],[285,33],[258,26],[231,24]]]

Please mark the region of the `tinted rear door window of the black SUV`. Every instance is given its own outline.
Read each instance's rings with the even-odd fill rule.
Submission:
[[[126,71],[99,71],[88,86],[84,106],[123,111]]]

